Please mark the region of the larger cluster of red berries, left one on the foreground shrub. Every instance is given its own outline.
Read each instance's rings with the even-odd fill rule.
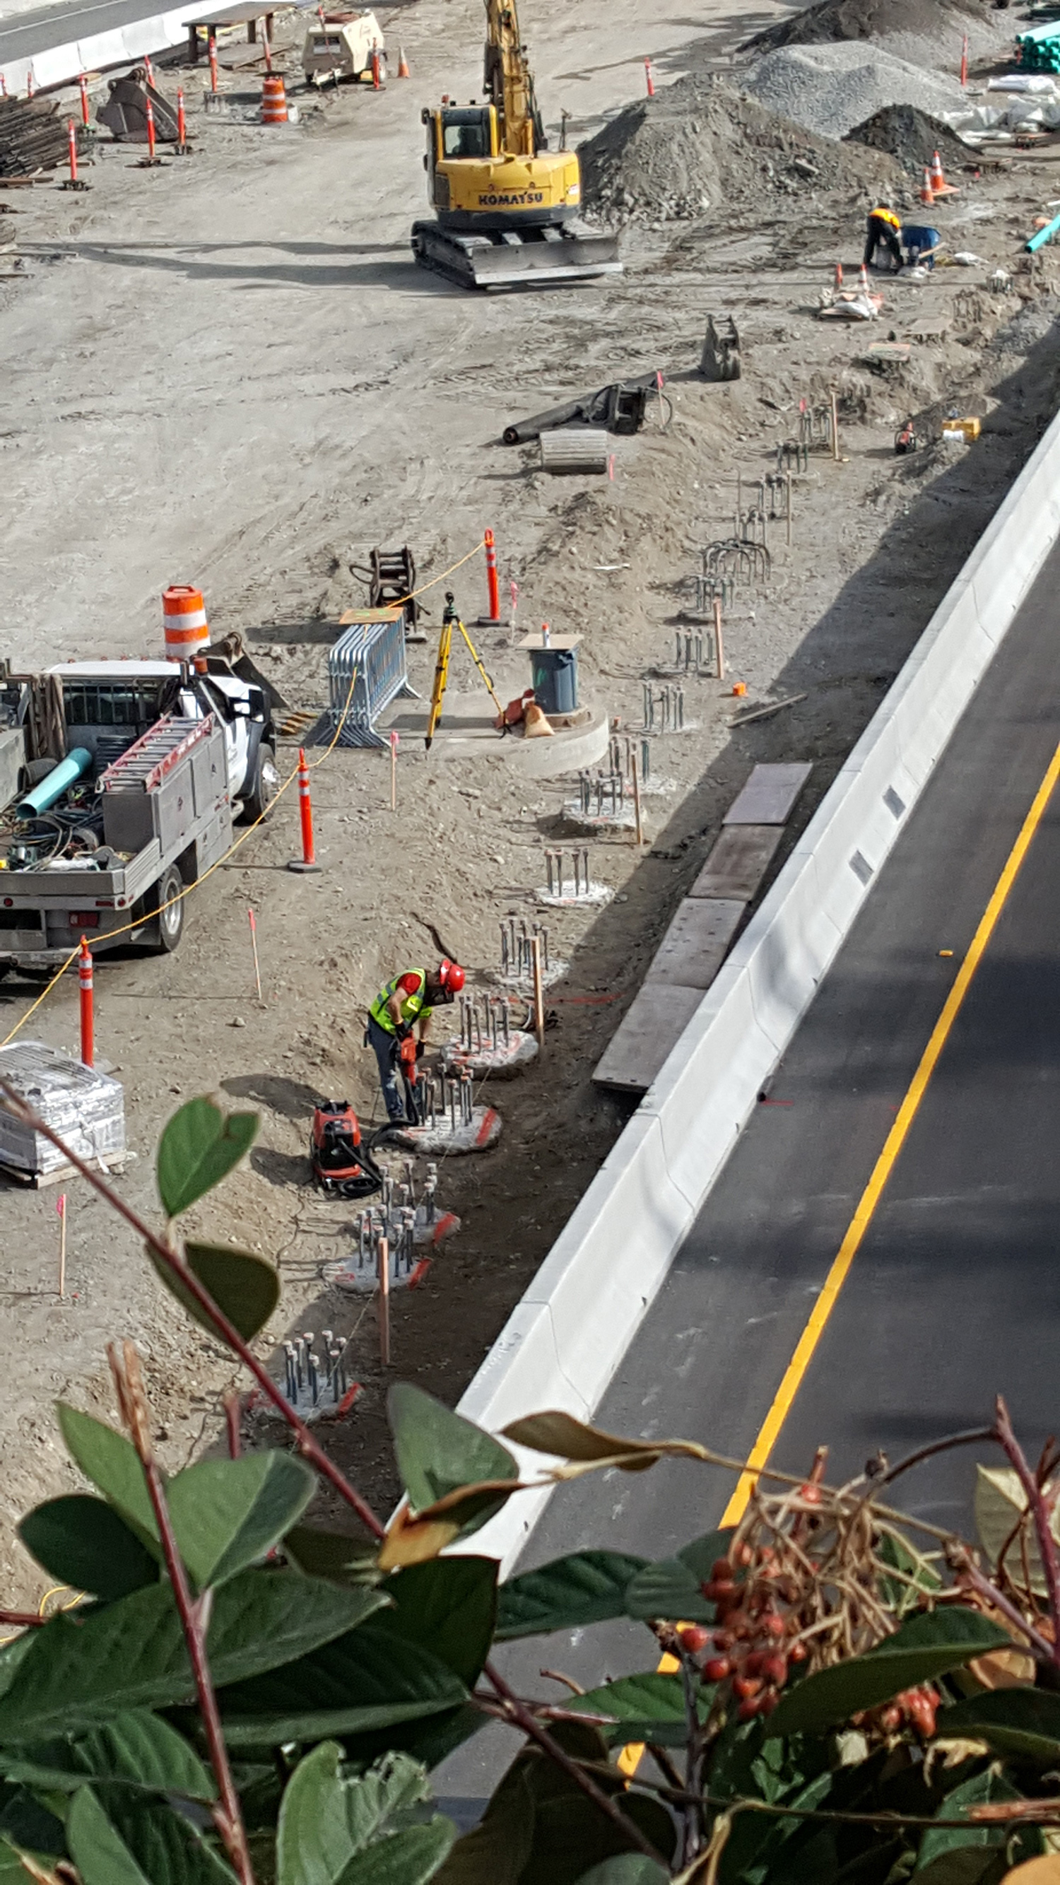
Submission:
[[[717,1625],[713,1631],[704,1625],[687,1625],[677,1632],[677,1640],[687,1655],[702,1655],[711,1647],[700,1664],[705,1681],[732,1681],[732,1693],[739,1702],[737,1715],[751,1721],[754,1715],[771,1715],[781,1698],[781,1689],[788,1680],[788,1664],[805,1661],[805,1646],[792,1642],[798,1634],[800,1619],[794,1612],[783,1614],[777,1606],[773,1551],[760,1546],[737,1546],[736,1557],[741,1568],[754,1568],[737,1583],[732,1559],[715,1559],[704,1597],[717,1606]]]

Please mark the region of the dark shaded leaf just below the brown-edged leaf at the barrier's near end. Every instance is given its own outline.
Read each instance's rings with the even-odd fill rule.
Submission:
[[[492,1644],[496,1570],[492,1557],[409,1565],[381,1585],[394,1608],[377,1617],[375,1629],[422,1644],[473,1689]]]

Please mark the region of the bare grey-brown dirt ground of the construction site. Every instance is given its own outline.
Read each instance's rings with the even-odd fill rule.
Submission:
[[[736,41],[783,9],[704,0],[688,17],[647,21],[634,0],[532,0],[524,11],[549,124],[568,111],[568,134],[588,138],[639,100],[647,55],[660,117],[671,81],[698,89],[720,72],[737,85]],[[421,106],[441,90],[475,96],[481,8],[417,0],[385,19],[413,79],[390,79],[379,96],[294,90],[302,121],[287,130],[219,123],[192,106],[185,162],[138,170],[138,153],[102,147],[91,194],[0,188],[11,213],[0,222],[17,230],[25,258],[21,279],[0,281],[0,347],[15,364],[0,388],[0,569],[4,652],[17,665],[155,652],[158,594],[190,581],[215,631],[238,628],[290,705],[313,711],[326,699],[338,615],[362,599],[349,564],[372,545],[409,543],[430,581],[490,526],[504,582],[519,582],[519,628],[549,620],[581,633],[583,696],[636,728],[643,677],[671,658],[675,624],[694,626],[700,550],[728,535],[737,473],[747,490],[773,467],[800,400],[820,403],[837,386],[841,411],[841,462],[813,456],[796,479],[790,550],[773,526],[770,584],[726,609],[730,677],[690,677],[688,731],[654,741],[653,769],[673,792],[645,801],[649,843],[638,854],[628,835],[592,841],[592,875],[615,899],[549,920],[553,954],[570,967],[549,990],[556,1025],[541,1061],[487,1093],[504,1116],[498,1148],[443,1167],[441,1203],[462,1231],[426,1282],[394,1299],[389,1378],[456,1401],[628,1118],[590,1073],[726,805],[754,762],[807,758],[792,835],[805,822],[1056,409],[1049,251],[1034,273],[1017,271],[1013,292],[985,283],[994,264],[1017,264],[1060,168],[1035,153],[962,173],[960,196],[932,215],[983,266],[881,281],[873,326],[817,320],[819,296],[836,260],[856,273],[866,190],[890,179],[911,204],[913,183],[875,151],[843,170],[847,145],[832,147],[824,181],[796,170],[790,187],[638,217],[619,279],[472,296],[415,270],[407,224],[424,213]],[[230,89],[253,90],[260,68],[247,66],[247,49],[224,58],[240,60]],[[189,98],[202,83],[187,68],[162,72],[170,92],[179,79]],[[707,311],[739,324],[739,383],[696,373]],[[888,336],[911,339],[909,362],[866,364],[868,345]],[[617,441],[613,481],[549,479],[534,449],[498,443],[511,417],[654,368],[668,403],[653,405],[639,437]],[[937,443],[951,409],[983,415],[983,437],[956,454]],[[909,413],[926,445],[896,458],[894,430]],[[473,618],[481,558],[453,586]],[[443,588],[424,596],[428,641],[409,648],[421,697]],[[479,637],[504,697],[528,684],[509,633]],[[741,705],[805,697],[734,729],[734,679],[747,684]],[[472,694],[472,682],[458,652],[453,686]],[[323,1284],[323,1267],[349,1246],[351,1208],[309,1186],[311,1106],[341,1095],[379,1118],[364,1005],[396,969],[430,961],[436,933],[475,986],[490,986],[500,920],[541,916],[543,848],[571,837],[570,784],[530,782],[511,745],[455,758],[441,737],[426,756],[417,713],[396,709],[396,814],[379,754],[340,748],[315,773],[319,877],[285,869],[298,848],[289,792],[194,893],[172,959],[128,950],[96,969],[98,1052],[124,1082],[136,1152],[123,1195],[157,1208],[153,1144],[179,1101],[221,1091],[260,1110],[249,1163],[190,1227],[279,1263],[283,1301],[262,1353],[306,1327],[349,1336],[362,1393],[330,1444],[381,1512],[394,1478],[375,1310]],[[285,773],[294,758],[285,745]],[[4,1031],[36,992],[4,982]],[[25,1033],[72,1048],[75,1025],[66,982]],[[25,1602],[47,1580],[21,1551],[15,1519],[72,1483],[51,1401],[109,1414],[104,1348],[132,1335],[149,1357],[160,1451],[177,1467],[213,1444],[232,1370],[189,1333],[132,1235],[85,1186],[70,1188],[64,1303],[55,1193],[4,1191],[0,1208],[11,1357],[0,1378],[0,1589]],[[247,1436],[260,1434],[249,1419]]]

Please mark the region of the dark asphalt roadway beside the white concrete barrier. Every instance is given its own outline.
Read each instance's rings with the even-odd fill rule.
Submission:
[[[1060,739],[1060,549],[883,867],[598,1410],[611,1433],[747,1457],[877,1167]],[[1024,831],[1026,839],[1026,831]],[[871,1221],[785,1412],[771,1463],[828,1478],[992,1418],[1060,1431],[1060,788],[1049,794]],[[952,950],[952,956],[939,954]],[[937,1455],[894,1502],[971,1527],[973,1461]],[[521,1568],[607,1548],[666,1557],[719,1525],[734,1474],[687,1463],[560,1487]],[[524,1695],[653,1666],[634,1625],[504,1651]],[[489,1793],[487,1730],[439,1793]],[[470,1804],[470,1802],[468,1802]]]

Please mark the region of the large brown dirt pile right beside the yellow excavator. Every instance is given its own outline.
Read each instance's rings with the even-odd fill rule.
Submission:
[[[694,221],[722,205],[764,213],[894,181],[883,153],[815,138],[709,77],[626,106],[577,155],[587,211],[621,222]]]

